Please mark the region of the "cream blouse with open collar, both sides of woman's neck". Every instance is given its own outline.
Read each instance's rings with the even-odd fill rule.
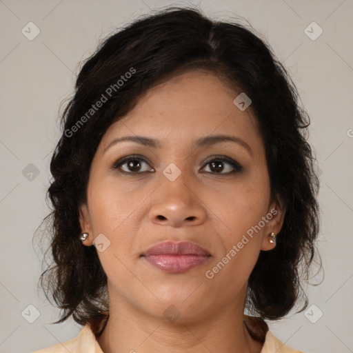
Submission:
[[[101,321],[97,332],[101,334],[108,317]],[[263,348],[261,353],[304,353],[300,350],[294,350],[277,339],[268,329],[268,324],[261,318],[244,315],[245,325],[248,327],[249,333],[253,339],[261,341]],[[99,336],[98,334],[98,336]],[[37,350],[33,353],[103,353],[94,334],[94,329],[90,324],[83,326],[81,332],[74,339],[70,339],[57,345]]]

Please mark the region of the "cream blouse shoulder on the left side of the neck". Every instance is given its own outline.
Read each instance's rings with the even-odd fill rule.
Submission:
[[[90,325],[85,325],[74,339],[32,353],[103,353]]]

